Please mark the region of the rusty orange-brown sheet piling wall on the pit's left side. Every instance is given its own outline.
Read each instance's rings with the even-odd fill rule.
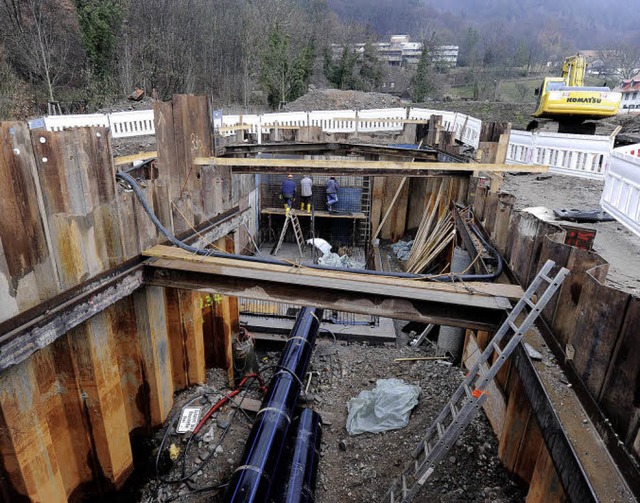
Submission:
[[[233,206],[249,206],[250,177],[234,204],[230,168],[191,164],[213,155],[205,97],[157,103],[156,131],[158,178],[145,180],[144,191],[172,232],[193,234]],[[137,283],[103,290],[108,307],[97,314],[89,296],[73,316],[12,336],[51,316],[58,297],[86,292],[93,278],[164,238],[116,183],[107,129],[0,123],[0,178],[0,501],[117,490],[134,469],[130,436],[162,424],[175,390],[203,382],[205,361],[232,377],[227,346],[237,302],[141,287],[138,273],[127,276]],[[246,245],[223,239],[229,251]]]

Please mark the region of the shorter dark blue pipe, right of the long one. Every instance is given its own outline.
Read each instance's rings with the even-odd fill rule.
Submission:
[[[287,456],[280,462],[280,494],[277,503],[312,503],[315,501],[322,419],[320,414],[303,409],[296,418],[289,438]],[[285,462],[286,459],[286,462]]]

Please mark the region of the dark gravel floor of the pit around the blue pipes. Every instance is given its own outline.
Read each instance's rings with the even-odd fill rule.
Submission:
[[[241,323],[252,316],[241,315]],[[291,326],[293,319],[280,318]],[[441,408],[449,401],[454,390],[464,379],[465,371],[446,359],[436,359],[433,342],[424,341],[419,347],[407,345],[410,334],[403,331],[420,329],[420,325],[392,321],[387,336],[403,341],[369,344],[336,340],[329,332],[349,329],[335,323],[325,323],[318,334],[316,347],[303,379],[304,391],[298,404],[317,411],[322,417],[322,444],[318,466],[315,501],[364,502],[380,501],[391,482],[402,470],[416,443],[432,424]],[[328,327],[324,329],[324,327]],[[274,339],[256,334],[255,352],[259,368],[268,382],[274,366],[280,359],[284,344],[280,336]],[[431,360],[395,361],[396,358],[429,358]],[[347,403],[363,390],[372,390],[379,379],[397,378],[420,387],[417,406],[408,425],[385,433],[363,433],[350,436],[346,429]],[[200,395],[212,400],[229,393],[226,373],[209,370],[205,384],[181,391],[175,396],[175,407],[170,418]],[[223,501],[225,484],[237,468],[251,421],[260,408],[261,392],[252,386],[246,394],[234,397],[234,403],[216,412],[191,441],[184,471],[193,472],[189,482],[166,484],[149,472],[148,481],[140,488],[140,495],[131,501],[140,503],[185,501]],[[204,405],[196,400],[191,405]],[[165,435],[163,426],[151,439],[152,458]],[[175,430],[175,427],[174,427]],[[170,460],[171,445],[183,451],[188,445],[189,433],[173,431],[160,454],[161,477],[175,477],[183,472],[180,461]],[[168,445],[167,445],[168,444]],[[174,449],[175,452],[175,449]],[[445,460],[438,466],[420,494],[419,502],[519,502],[524,501],[526,490],[510,478],[497,457],[498,442],[486,416],[478,414],[464,431]]]

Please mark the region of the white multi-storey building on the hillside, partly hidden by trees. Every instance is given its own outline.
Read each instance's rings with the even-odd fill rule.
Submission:
[[[366,44],[351,44],[349,47],[362,54]],[[411,42],[409,35],[392,35],[389,42],[375,42],[378,58],[389,66],[417,66],[422,55],[422,42]],[[344,45],[332,44],[334,59],[338,59],[344,51]],[[441,66],[454,67],[458,64],[457,45],[436,45],[430,48],[431,61]]]

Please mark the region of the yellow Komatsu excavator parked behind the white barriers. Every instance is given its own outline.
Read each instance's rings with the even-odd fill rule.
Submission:
[[[533,116],[582,122],[616,115],[622,95],[608,87],[585,86],[586,69],[587,62],[581,54],[565,59],[562,77],[545,77],[542,87],[536,89],[538,108]]]

